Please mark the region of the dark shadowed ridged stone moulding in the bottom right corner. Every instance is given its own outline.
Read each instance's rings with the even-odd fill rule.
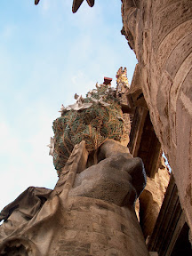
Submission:
[[[159,256],[192,255],[188,231],[185,214],[180,207],[178,190],[171,175],[156,226],[148,241],[148,251],[158,252]]]

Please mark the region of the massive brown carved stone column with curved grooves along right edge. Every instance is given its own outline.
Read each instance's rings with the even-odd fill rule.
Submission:
[[[123,0],[126,36],[156,135],[192,228],[192,1]]]

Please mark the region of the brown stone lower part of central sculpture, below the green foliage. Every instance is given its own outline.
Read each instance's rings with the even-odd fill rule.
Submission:
[[[111,148],[120,152],[86,168],[85,141],[76,145],[51,195],[32,218],[6,227],[12,209],[0,227],[0,255],[148,256],[133,206],[146,183],[143,164],[122,153],[127,149],[118,143]],[[24,198],[28,202],[30,194]]]

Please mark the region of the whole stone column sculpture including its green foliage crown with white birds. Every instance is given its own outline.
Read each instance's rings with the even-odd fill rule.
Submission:
[[[148,256],[134,212],[144,166],[122,145],[122,110],[109,89],[97,84],[61,108],[49,145],[59,180],[53,190],[28,188],[0,213],[0,255]]]

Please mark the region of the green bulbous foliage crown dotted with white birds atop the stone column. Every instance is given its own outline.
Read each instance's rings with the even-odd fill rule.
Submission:
[[[86,98],[75,95],[76,103],[60,109],[61,116],[53,121],[53,164],[60,176],[74,146],[85,140],[89,153],[108,140],[125,140],[123,113],[111,84],[96,84]]]

